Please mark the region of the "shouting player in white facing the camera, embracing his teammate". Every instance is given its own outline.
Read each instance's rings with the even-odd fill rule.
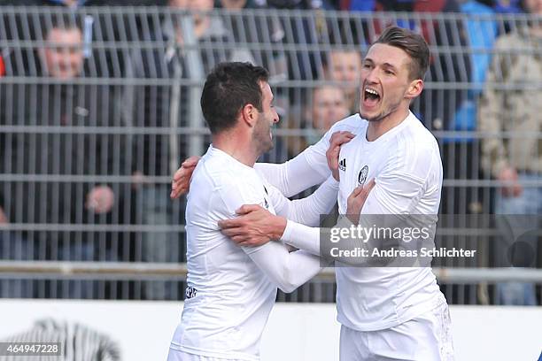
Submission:
[[[422,214],[436,223],[442,162],[435,137],[409,110],[423,88],[430,51],[422,36],[387,28],[363,59],[360,113],[337,122],[320,142],[283,165],[256,165],[284,196],[340,179],[338,204],[352,212],[348,195],[370,179],[376,187],[356,214]],[[345,143],[345,133],[350,132]],[[187,188],[190,159],[175,174],[172,196]],[[328,167],[329,165],[329,167]],[[220,223],[240,245],[281,239],[320,254],[320,229],[244,205],[242,217]],[[433,217],[434,216],[434,217]],[[451,360],[448,306],[430,267],[337,267],[337,319],[341,361]]]

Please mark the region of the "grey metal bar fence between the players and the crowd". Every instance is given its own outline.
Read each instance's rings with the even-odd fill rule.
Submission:
[[[542,204],[542,121],[530,113],[542,104],[542,78],[529,71],[542,66],[541,42],[529,31],[540,23],[527,15],[3,7],[0,296],[182,299],[185,204],[169,200],[169,186],[182,159],[209,142],[199,108],[205,73],[225,60],[269,69],[281,122],[263,160],[283,162],[356,112],[361,57],[391,24],[430,44],[430,70],[412,111],[440,143],[441,212],[495,211],[501,182],[483,149],[495,139],[533,145],[534,166],[520,168],[530,178],[520,182]],[[499,47],[515,34],[522,43]],[[510,118],[502,130],[481,128],[480,99],[490,91],[524,96],[532,127]],[[493,286],[504,280],[537,283],[540,292],[540,273],[492,273],[482,268],[492,257],[441,265],[448,300],[499,303]],[[329,273],[279,295],[334,299]]]

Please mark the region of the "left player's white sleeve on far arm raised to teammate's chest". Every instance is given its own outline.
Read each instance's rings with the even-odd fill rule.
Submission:
[[[311,196],[294,201],[273,186],[268,190],[277,215],[307,226],[318,226],[321,216],[329,214],[337,203],[338,181],[329,177]]]

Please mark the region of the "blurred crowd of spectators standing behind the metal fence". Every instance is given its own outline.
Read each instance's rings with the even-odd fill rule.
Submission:
[[[0,84],[0,125],[37,130],[35,134],[0,132],[0,224],[51,227],[23,227],[0,234],[1,258],[181,261],[183,234],[174,227],[184,223],[183,204],[169,200],[168,179],[181,160],[191,155],[188,143],[195,135],[190,134],[190,119],[195,113],[189,105],[197,97],[197,88],[195,92],[190,81],[203,81],[205,73],[221,61],[266,66],[272,84],[278,84],[279,128],[286,134],[278,137],[266,160],[284,161],[318,141],[337,120],[357,112],[363,51],[391,23],[422,33],[438,50],[431,58],[426,82],[440,86],[426,88],[412,110],[439,134],[445,179],[503,182],[503,187],[489,187],[485,193],[479,188],[447,187],[441,211],[542,212],[542,187],[537,183],[542,180],[542,142],[532,136],[542,130],[539,18],[519,26],[504,21],[499,26],[489,18],[439,22],[437,18],[381,16],[385,12],[542,15],[540,0],[24,0],[0,4],[71,9],[162,5],[197,11],[190,18],[190,32],[181,16],[155,19],[149,15],[152,19],[143,16],[130,23],[127,27],[133,31],[129,33],[106,17],[74,12],[62,16],[29,13],[27,18],[15,19],[3,12],[0,37],[13,42],[2,47],[0,74],[19,81]],[[213,8],[345,10],[373,12],[375,19],[368,17],[361,28],[353,27],[347,18],[331,24],[320,12],[314,21],[243,18],[232,22],[206,13]],[[15,49],[17,41],[39,45]],[[100,51],[95,45],[101,42],[157,42],[159,46]],[[255,43],[272,46],[252,47]],[[190,51],[191,44],[197,44],[196,55]],[[281,51],[281,46],[288,51]],[[458,50],[469,47],[482,51]],[[104,78],[125,81],[84,81]],[[301,85],[281,88],[281,81]],[[496,88],[494,82],[511,88]],[[446,83],[473,86],[446,87]],[[70,132],[58,131],[66,126]],[[172,134],[171,129],[182,131]],[[476,137],[472,133],[476,131],[487,134]],[[510,131],[531,135],[510,137]],[[205,142],[205,134],[201,136]],[[53,181],[43,181],[44,176]],[[523,187],[529,182],[535,186]],[[491,200],[484,202],[484,194]],[[142,227],[127,232],[122,227],[108,228],[111,225]],[[157,230],[157,226],[162,228]],[[527,242],[536,254],[536,238]],[[18,287],[31,288],[24,283]],[[54,289],[43,296],[90,297],[93,287],[74,283],[70,291]],[[500,303],[537,302],[532,284],[515,282],[500,288]],[[141,292],[148,299],[174,298],[171,289],[166,282],[150,282]],[[24,289],[18,292],[34,296]]]

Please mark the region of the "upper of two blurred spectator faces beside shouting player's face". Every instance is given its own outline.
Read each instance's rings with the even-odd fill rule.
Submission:
[[[331,50],[324,64],[324,76],[340,82],[345,92],[345,105],[357,113],[360,97],[361,54],[358,50]]]

